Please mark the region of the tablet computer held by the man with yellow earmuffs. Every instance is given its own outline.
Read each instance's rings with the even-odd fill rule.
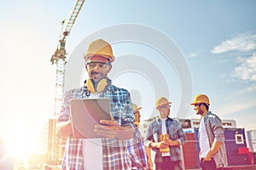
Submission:
[[[70,113],[75,139],[104,138],[94,132],[100,120],[111,120],[109,99],[71,99]]]

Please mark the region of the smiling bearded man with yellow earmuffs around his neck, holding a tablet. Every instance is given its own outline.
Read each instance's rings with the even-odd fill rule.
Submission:
[[[115,87],[108,78],[114,60],[112,47],[98,39],[91,42],[84,55],[89,79],[81,88],[65,94],[61,115],[57,118],[56,133],[68,137],[61,169],[131,169],[126,139],[133,135],[134,116],[131,97],[124,88]],[[101,120],[95,132],[102,139],[74,139],[70,121],[70,99],[108,98],[113,120]]]

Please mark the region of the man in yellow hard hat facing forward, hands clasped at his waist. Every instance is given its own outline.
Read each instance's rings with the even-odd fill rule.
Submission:
[[[169,117],[171,103],[164,97],[156,100],[159,117],[149,122],[146,129],[145,144],[153,150],[152,157],[157,170],[183,169],[180,146],[187,139],[180,123]]]

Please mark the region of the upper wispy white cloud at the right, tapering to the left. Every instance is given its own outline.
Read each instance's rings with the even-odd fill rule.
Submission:
[[[239,52],[248,52],[256,49],[256,34],[246,32],[231,39],[221,42],[218,46],[214,47],[212,54],[222,54],[232,50]]]

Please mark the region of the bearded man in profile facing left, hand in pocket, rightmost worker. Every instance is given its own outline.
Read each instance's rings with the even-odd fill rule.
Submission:
[[[202,170],[224,169],[227,156],[224,145],[224,127],[220,118],[209,110],[207,95],[198,94],[193,99],[196,115],[201,116],[199,127],[200,160]]]

